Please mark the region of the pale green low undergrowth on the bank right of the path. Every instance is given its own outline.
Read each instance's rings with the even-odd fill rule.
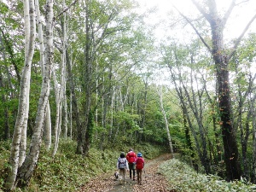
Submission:
[[[170,191],[175,192],[253,192],[256,185],[246,180],[226,182],[215,175],[196,173],[180,160],[167,160],[159,167],[159,172],[166,176]]]

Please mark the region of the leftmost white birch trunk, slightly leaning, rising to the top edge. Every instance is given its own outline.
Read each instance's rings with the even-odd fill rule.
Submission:
[[[20,96],[17,119],[15,123],[15,131],[12,140],[10,158],[9,158],[9,175],[7,177],[5,188],[8,190],[15,188],[15,179],[20,161],[24,159],[20,153],[25,155],[26,152],[26,134],[24,131],[25,120],[27,119],[29,105],[29,88],[32,56],[34,54],[35,45],[35,10],[33,0],[24,0],[24,26],[25,26],[25,67],[23,69],[20,82]],[[21,148],[20,148],[21,144]]]

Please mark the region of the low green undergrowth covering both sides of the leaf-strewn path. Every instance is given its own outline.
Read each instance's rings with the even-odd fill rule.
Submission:
[[[0,143],[0,191],[3,189],[4,168],[8,166],[10,143]],[[76,143],[70,140],[59,145],[55,157],[42,148],[38,167],[31,183],[26,189],[15,191],[79,191],[91,177],[104,172],[113,172],[116,160],[121,151],[129,146],[110,148],[104,151],[90,148],[88,157],[75,154]],[[134,147],[135,151],[143,153],[147,159],[152,159],[162,153],[162,146],[152,146],[143,143]],[[160,165],[159,172],[166,176],[170,190],[176,192],[253,192],[256,185],[246,180],[227,183],[214,175],[197,174],[189,165],[178,159],[167,160]]]

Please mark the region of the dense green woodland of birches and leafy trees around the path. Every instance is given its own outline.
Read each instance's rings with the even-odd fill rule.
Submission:
[[[167,146],[201,172],[256,183],[256,14],[224,37],[230,15],[253,0],[189,2],[195,15],[173,4],[158,25],[132,0],[0,2],[6,191],[28,185],[40,150],[54,158],[62,138],[84,158],[123,143]],[[161,24],[169,37],[154,35]]]

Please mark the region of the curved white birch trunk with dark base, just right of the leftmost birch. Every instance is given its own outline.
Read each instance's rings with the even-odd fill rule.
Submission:
[[[19,187],[27,186],[29,183],[32,172],[38,162],[38,155],[42,143],[42,136],[44,131],[44,120],[46,115],[46,108],[49,99],[49,82],[50,82],[50,70],[53,60],[53,0],[46,1],[46,41],[45,41],[45,66],[42,81],[42,89],[38,102],[38,112],[36,122],[32,134],[32,142],[30,144],[29,153],[26,155],[26,159],[23,165],[20,167],[16,177],[15,184]]]

